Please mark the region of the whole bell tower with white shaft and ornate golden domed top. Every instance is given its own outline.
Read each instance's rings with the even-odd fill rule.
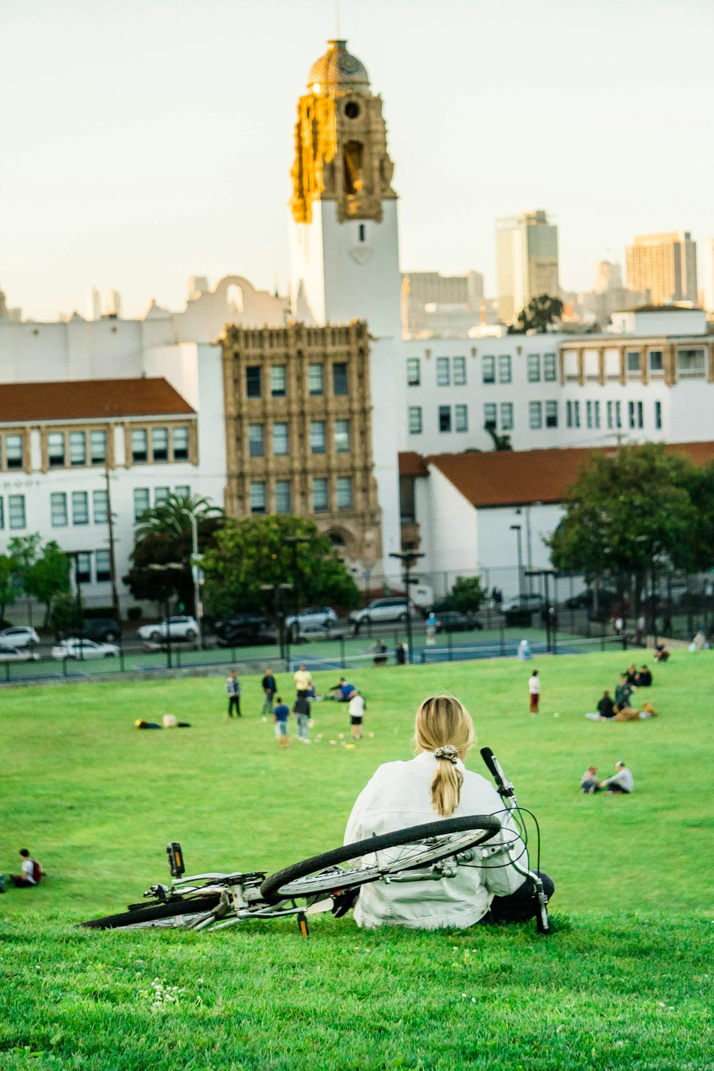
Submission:
[[[346,42],[329,42],[298,103],[290,200],[291,303],[306,323],[366,319],[399,337],[394,165],[382,100]]]

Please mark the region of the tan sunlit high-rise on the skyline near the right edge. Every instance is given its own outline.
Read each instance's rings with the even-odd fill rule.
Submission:
[[[631,290],[649,290],[653,305],[697,303],[697,243],[688,230],[639,235],[625,254]]]

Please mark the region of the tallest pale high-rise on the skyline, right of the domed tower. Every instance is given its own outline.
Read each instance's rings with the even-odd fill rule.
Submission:
[[[558,297],[558,227],[543,209],[496,221],[499,316],[508,323],[532,298]]]

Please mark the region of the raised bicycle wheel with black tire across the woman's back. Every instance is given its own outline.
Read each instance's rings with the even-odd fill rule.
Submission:
[[[313,896],[320,893],[336,892],[346,888],[354,889],[370,881],[377,881],[386,874],[404,870],[414,870],[427,862],[438,862],[449,856],[467,851],[489,840],[501,831],[501,823],[490,814],[467,815],[460,818],[444,818],[442,821],[430,821],[423,826],[410,826],[392,833],[371,836],[367,841],[355,844],[345,844],[332,851],[310,856],[301,862],[286,866],[284,870],[270,874],[260,886],[260,893],[269,904],[278,900]],[[462,834],[457,841],[454,834]],[[440,844],[427,845],[422,842],[435,838],[449,838]],[[374,865],[358,865],[343,871],[325,873],[330,868],[340,863],[362,860],[364,856],[384,851],[388,848],[419,846],[410,857],[396,859],[386,863]]]

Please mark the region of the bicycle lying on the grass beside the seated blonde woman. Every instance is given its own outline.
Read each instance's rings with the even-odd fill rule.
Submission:
[[[515,817],[526,843],[513,784],[490,749],[482,748],[481,754],[504,800],[504,814]],[[516,839],[508,842],[502,832],[508,830],[502,829],[498,815],[443,818],[346,844],[270,875],[253,871],[185,877],[183,851],[173,842],[166,849],[171,885],[152,885],[143,894],[145,903],[130,904],[126,911],[90,919],[81,925],[94,930],[222,930],[252,919],[293,917],[306,936],[308,916],[332,911],[340,917],[349,910],[360,887],[370,881],[449,880],[456,875],[457,866],[478,866],[478,860],[485,858],[492,864],[493,856],[501,854],[506,859],[504,865],[513,865],[523,878],[533,881],[538,900],[537,929],[547,934],[548,901],[543,883],[537,873],[513,857]]]

